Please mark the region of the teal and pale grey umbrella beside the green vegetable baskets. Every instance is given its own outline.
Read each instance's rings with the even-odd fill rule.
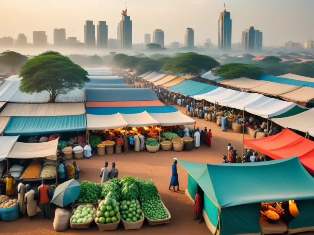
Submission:
[[[68,180],[56,188],[51,202],[57,206],[66,206],[77,199],[80,191],[81,185],[78,181]]]

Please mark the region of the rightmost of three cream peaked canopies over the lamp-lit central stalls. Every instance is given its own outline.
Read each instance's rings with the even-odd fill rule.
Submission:
[[[191,125],[195,123],[194,119],[184,115],[180,111],[168,113],[149,113],[149,115],[151,115],[160,123],[160,125],[164,127]]]

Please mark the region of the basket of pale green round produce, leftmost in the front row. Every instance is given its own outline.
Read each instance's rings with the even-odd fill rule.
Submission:
[[[73,209],[70,218],[70,226],[71,228],[89,228],[90,223],[93,222],[95,218],[94,216],[94,205],[79,205]]]

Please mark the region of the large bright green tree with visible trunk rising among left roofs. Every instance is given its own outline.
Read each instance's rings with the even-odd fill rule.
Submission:
[[[54,103],[60,94],[83,89],[84,83],[90,81],[87,75],[86,70],[66,56],[38,55],[22,66],[19,89],[29,94],[48,91],[49,103]]]

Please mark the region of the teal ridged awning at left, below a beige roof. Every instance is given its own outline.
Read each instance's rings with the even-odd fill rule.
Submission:
[[[11,117],[4,135],[37,135],[86,130],[83,115],[49,117]]]

